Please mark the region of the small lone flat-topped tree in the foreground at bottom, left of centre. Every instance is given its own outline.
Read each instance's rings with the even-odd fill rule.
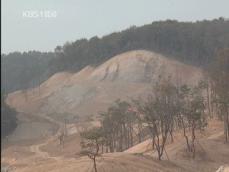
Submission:
[[[101,128],[92,128],[90,130],[80,133],[81,141],[81,155],[87,155],[92,161],[95,172],[97,172],[96,157],[100,156],[99,148],[102,139]]]

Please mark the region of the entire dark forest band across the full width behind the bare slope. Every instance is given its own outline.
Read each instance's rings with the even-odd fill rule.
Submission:
[[[102,38],[95,36],[66,43],[52,53],[2,55],[2,88],[11,92],[37,86],[56,72],[76,72],[135,49],[152,50],[185,63],[205,66],[218,49],[229,47],[228,28],[229,21],[223,18],[195,23],[167,20],[133,26]]]

